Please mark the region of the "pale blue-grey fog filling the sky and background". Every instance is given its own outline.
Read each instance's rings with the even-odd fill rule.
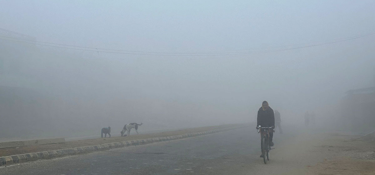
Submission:
[[[251,123],[263,100],[285,124],[339,124],[345,92],[375,86],[374,7],[0,1],[0,139]]]

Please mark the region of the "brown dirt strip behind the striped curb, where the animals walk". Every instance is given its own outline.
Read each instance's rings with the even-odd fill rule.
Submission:
[[[100,145],[100,144],[107,144],[111,142],[122,142],[122,141],[138,140],[138,139],[175,136],[175,135],[182,135],[182,134],[194,133],[194,132],[203,132],[203,131],[208,131],[208,130],[223,129],[223,128],[235,127],[235,126],[240,126],[240,124],[225,124],[225,125],[220,125],[220,126],[197,127],[197,128],[192,128],[192,129],[183,129],[183,130],[176,130],[176,131],[151,133],[151,134],[139,134],[139,135],[133,135],[135,133],[133,131],[134,133],[130,132],[130,136],[126,136],[126,137],[100,138],[100,135],[98,135],[99,138],[97,139],[68,141],[64,143],[48,144],[48,145],[0,148],[0,157],[17,155],[17,154],[25,154],[25,153],[36,153],[36,152],[41,152],[41,151],[51,151],[51,150],[83,147],[83,146],[90,146],[90,145]]]

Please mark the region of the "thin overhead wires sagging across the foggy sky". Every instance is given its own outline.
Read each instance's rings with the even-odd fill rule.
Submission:
[[[353,39],[357,39],[357,38],[361,38],[361,37],[370,36],[372,34],[375,34],[375,32],[367,33],[367,34],[363,34],[363,35],[345,37],[345,38],[340,38],[340,39],[334,39],[334,40],[329,40],[329,41],[326,41],[326,42],[320,42],[320,43],[315,43],[315,44],[310,43],[309,45],[305,45],[305,46],[296,46],[296,45],[303,45],[303,44],[296,44],[296,45],[281,46],[281,47],[295,46],[295,47],[291,47],[291,48],[269,49],[269,50],[261,50],[261,51],[243,51],[243,52],[149,52],[149,51],[130,51],[130,50],[118,50],[118,49],[92,48],[92,47],[84,47],[84,46],[66,45],[66,44],[60,44],[60,43],[51,43],[51,42],[41,42],[41,41],[33,41],[33,40],[27,40],[27,39],[18,39],[18,38],[9,37],[9,36],[0,36],[0,37],[5,37],[5,38],[10,38],[10,39],[0,38],[0,40],[20,42],[20,43],[28,43],[28,44],[40,45],[40,46],[49,46],[49,47],[55,47],[55,48],[73,49],[73,50],[80,50],[80,51],[102,52],[102,53],[114,53],[114,54],[156,55],[156,56],[223,56],[223,55],[259,54],[259,53],[280,52],[280,51],[287,51],[287,50],[293,50],[293,49],[308,48],[308,47],[314,47],[314,46],[321,46],[321,45],[343,42],[343,41],[347,41],[347,40],[353,40]],[[29,42],[26,42],[26,41],[29,41]]]

